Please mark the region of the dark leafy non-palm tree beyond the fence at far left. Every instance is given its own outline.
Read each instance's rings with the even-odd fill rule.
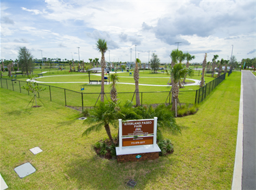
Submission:
[[[22,47],[18,50],[18,63],[21,71],[25,73],[25,75],[29,76],[29,73],[33,72],[33,56],[26,47]]]

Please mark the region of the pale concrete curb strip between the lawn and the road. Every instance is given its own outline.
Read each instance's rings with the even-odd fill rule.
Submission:
[[[244,104],[243,104],[243,82],[241,72],[240,108],[238,118],[238,136],[236,139],[236,158],[233,168],[232,190],[242,189],[242,154],[243,154],[243,128],[244,128]]]

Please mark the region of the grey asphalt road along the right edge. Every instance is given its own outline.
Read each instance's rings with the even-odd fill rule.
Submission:
[[[242,190],[256,189],[256,77],[242,72],[244,86],[244,131],[242,160]]]

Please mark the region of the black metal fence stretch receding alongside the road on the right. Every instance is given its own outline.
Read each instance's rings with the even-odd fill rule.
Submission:
[[[199,104],[201,101],[203,101],[203,99],[205,99],[205,97],[207,97],[213,91],[213,89],[215,89],[216,86],[218,86],[218,84],[223,82],[225,78],[226,74],[223,74],[218,78],[215,78],[211,82],[208,82],[207,84],[205,84],[205,86],[198,89],[195,95],[195,104]]]

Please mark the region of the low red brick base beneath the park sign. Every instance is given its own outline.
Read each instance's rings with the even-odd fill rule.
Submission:
[[[141,155],[139,159],[137,159],[137,155]],[[132,155],[117,155],[117,162],[128,162],[128,161],[144,161],[148,159],[158,159],[159,153],[138,153]]]

